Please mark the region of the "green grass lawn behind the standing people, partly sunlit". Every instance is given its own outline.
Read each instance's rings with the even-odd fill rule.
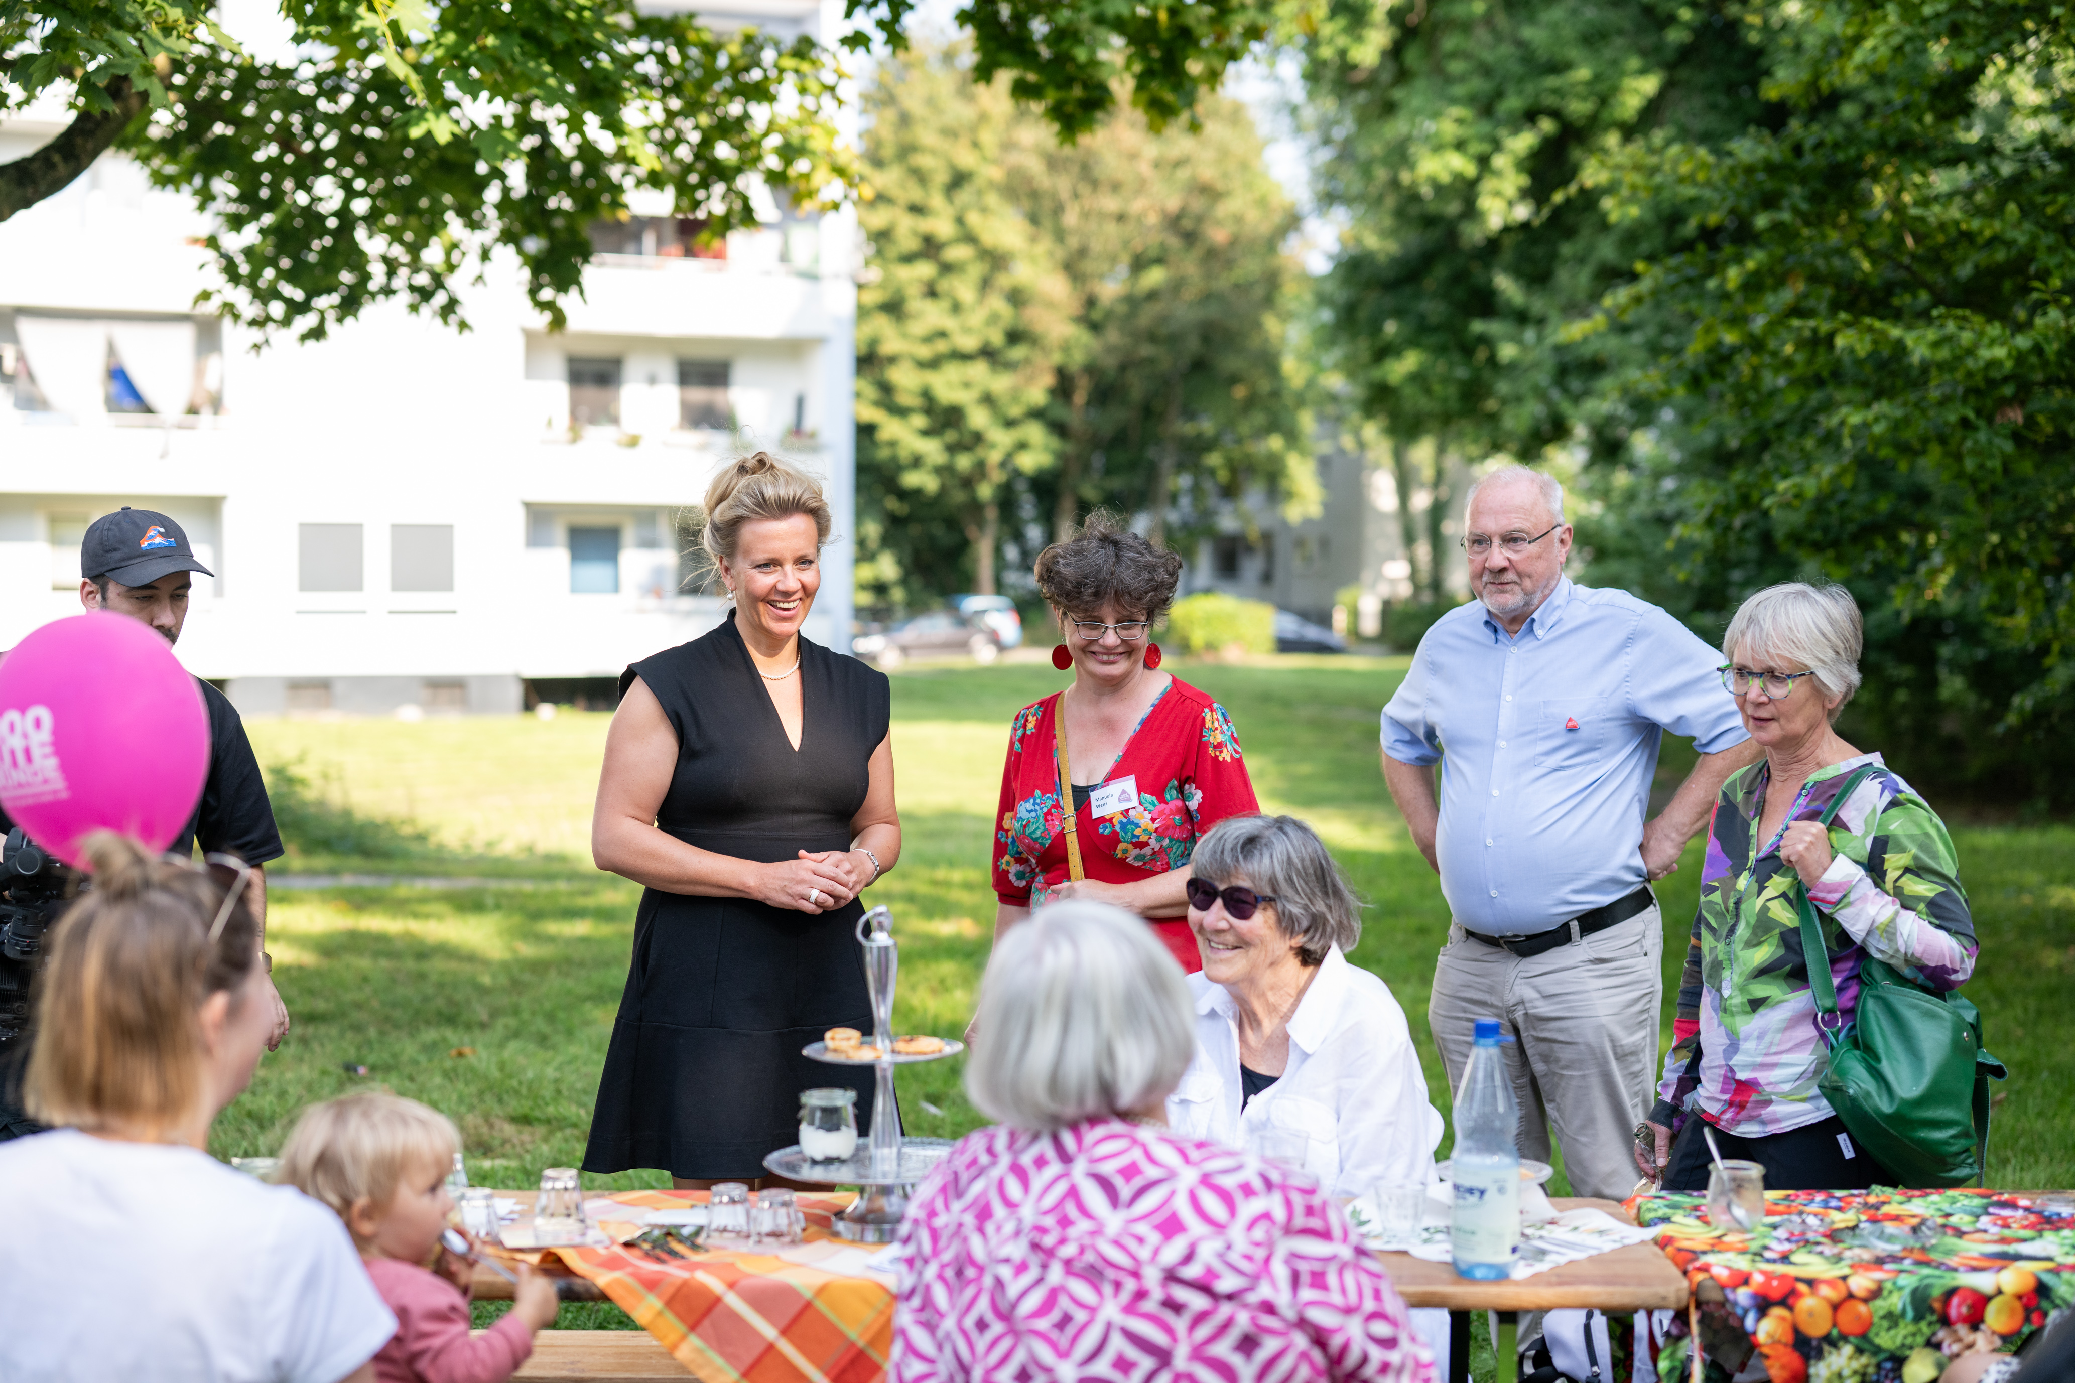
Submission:
[[[1355,962],[1382,975],[1405,1006],[1430,1093],[1446,1113],[1426,997],[1448,916],[1376,771],[1376,713],[1403,659],[1280,657],[1179,672],[1233,711],[1262,807],[1311,821],[1370,900]],[[1042,664],[894,674],[905,842],[898,869],[867,900],[894,910],[903,939],[903,1031],[957,1035],[965,1026],[994,916],[988,844],[1008,717],[1060,684]],[[297,852],[276,873],[444,873],[492,883],[276,892],[270,945],[295,1033],[218,1120],[214,1151],[272,1153],[301,1105],[376,1082],[448,1111],[477,1184],[523,1186],[542,1167],[575,1165],[639,894],[587,858],[606,717],[253,722],[249,732],[264,763],[297,763],[334,807],[405,823],[432,842],[382,858]],[[1892,757],[1907,771],[1907,757]],[[1961,829],[1957,840],[1982,935],[1969,995],[1986,1014],[1990,1047],[2013,1070],[1998,1091],[1990,1180],[2075,1186],[2067,1136],[2075,879],[2065,863],[2075,831]],[[1697,869],[1699,844],[1662,890],[1675,919],[1666,1033]],[[911,1132],[955,1136],[979,1122],[957,1068],[903,1070]],[[718,1084],[728,1072],[710,1078]],[[668,1178],[589,1184],[666,1186]]]

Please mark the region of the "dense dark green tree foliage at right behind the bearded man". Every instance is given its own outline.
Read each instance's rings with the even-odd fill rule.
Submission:
[[[1399,435],[1587,462],[1596,578],[1706,637],[1868,610],[1857,734],[2065,796],[2065,4],[1338,4],[1336,363]]]

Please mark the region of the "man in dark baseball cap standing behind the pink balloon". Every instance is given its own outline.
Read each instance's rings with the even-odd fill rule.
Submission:
[[[187,591],[193,585],[191,572],[214,576],[210,568],[195,560],[195,549],[187,533],[166,514],[122,506],[114,514],[104,514],[87,529],[79,545],[79,603],[87,610],[114,610],[133,620],[143,620],[156,628],[166,643],[178,643],[181,626],[187,622]],[[253,867],[245,883],[245,902],[253,921],[259,923],[259,948],[266,952],[266,871],[268,860],[280,858],[280,831],[274,829],[274,807],[266,796],[266,782],[259,778],[259,761],[245,738],[245,722],[239,719],[230,701],[195,678],[201,688],[201,703],[210,711],[210,778],[201,788],[201,800],[187,829],[172,842],[170,852],[187,858],[201,842],[203,852],[222,850]],[[0,813],[0,834],[12,823]],[[268,970],[272,972],[272,962]],[[268,1001],[274,1006],[274,1037],[268,1047],[278,1047],[288,1033],[288,1010],[268,979]],[[6,1111],[0,1109],[0,1124]],[[0,1130],[0,1136],[6,1136]]]

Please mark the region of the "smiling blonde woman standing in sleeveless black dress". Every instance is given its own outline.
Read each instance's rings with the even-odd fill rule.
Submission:
[[[869,1126],[872,1070],[799,1049],[872,1026],[857,894],[901,854],[886,674],[799,632],[820,485],[757,452],[706,514],[735,610],[620,674],[591,819],[598,867],[647,892],[583,1169],[666,1167],[679,1186],[764,1178],[809,1086],[855,1086]]]

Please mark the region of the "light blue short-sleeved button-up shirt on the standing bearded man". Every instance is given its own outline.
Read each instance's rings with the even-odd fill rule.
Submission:
[[[1656,605],[1569,576],[1517,637],[1444,614],[1384,707],[1384,753],[1440,775],[1440,890],[1486,935],[1533,935],[1633,894],[1664,732],[1745,740],[1722,655]]]

